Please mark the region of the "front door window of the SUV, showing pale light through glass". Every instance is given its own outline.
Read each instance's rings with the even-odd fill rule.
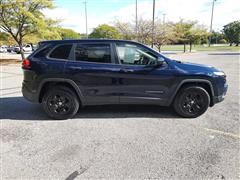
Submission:
[[[157,57],[144,47],[125,43],[117,43],[116,47],[121,64],[150,65],[157,61]]]

